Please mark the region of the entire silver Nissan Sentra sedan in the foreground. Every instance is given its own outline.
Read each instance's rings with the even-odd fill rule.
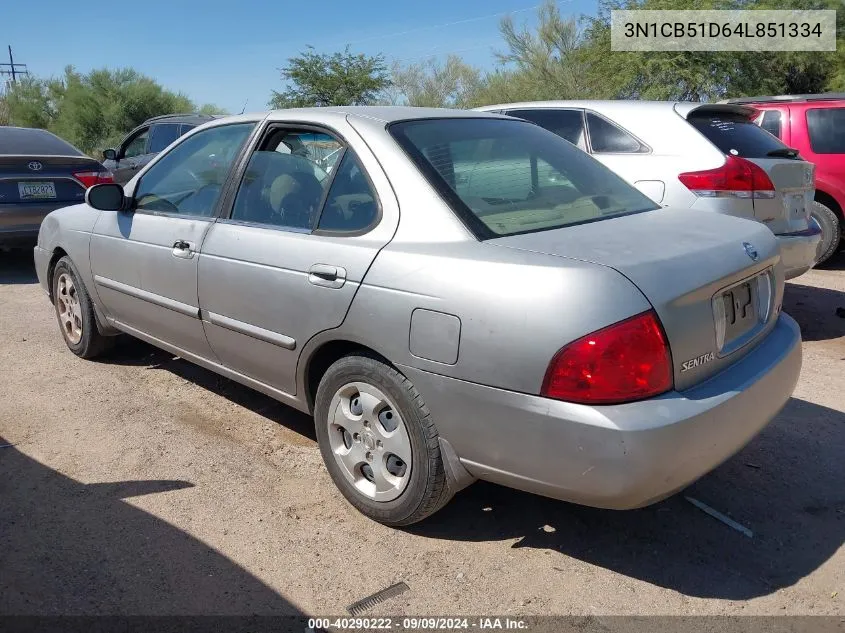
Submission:
[[[35,260],[73,353],[125,332],[312,414],[335,484],[388,525],[478,478],[652,503],[801,368],[762,224],[660,209],[500,115],[220,119],[51,213]]]

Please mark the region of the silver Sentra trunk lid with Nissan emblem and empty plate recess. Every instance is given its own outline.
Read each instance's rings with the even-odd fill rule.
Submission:
[[[625,275],[660,317],[678,390],[750,351],[774,326],[783,297],[774,236],[762,224],[730,216],[667,208],[487,243]]]

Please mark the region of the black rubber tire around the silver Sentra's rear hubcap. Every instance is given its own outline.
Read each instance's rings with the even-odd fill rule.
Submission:
[[[329,441],[329,414],[334,395],[344,385],[361,382],[386,394],[405,423],[411,444],[411,474],[402,493],[392,501],[375,501],[358,491],[344,476]],[[422,396],[396,369],[375,356],[354,354],[326,371],[314,405],[317,441],[323,462],[343,496],[362,514],[388,526],[411,525],[433,514],[450,498],[440,454],[437,429]]]

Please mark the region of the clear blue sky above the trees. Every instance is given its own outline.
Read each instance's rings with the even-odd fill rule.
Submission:
[[[266,108],[279,68],[310,44],[321,52],[384,53],[420,61],[460,54],[489,68],[501,50],[499,20],[536,23],[542,0],[130,0],[93,4],[9,0],[0,12],[0,57],[38,76],[133,67],[197,103],[230,112]],[[594,13],[596,0],[562,0],[564,15]],[[2,61],[6,62],[7,59]]]

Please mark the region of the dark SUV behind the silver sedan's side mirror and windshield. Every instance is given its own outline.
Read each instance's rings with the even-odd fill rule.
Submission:
[[[153,117],[132,130],[116,149],[103,152],[103,165],[114,181],[125,185],[156,154],[188,130],[215,117],[208,114],[166,114]]]

